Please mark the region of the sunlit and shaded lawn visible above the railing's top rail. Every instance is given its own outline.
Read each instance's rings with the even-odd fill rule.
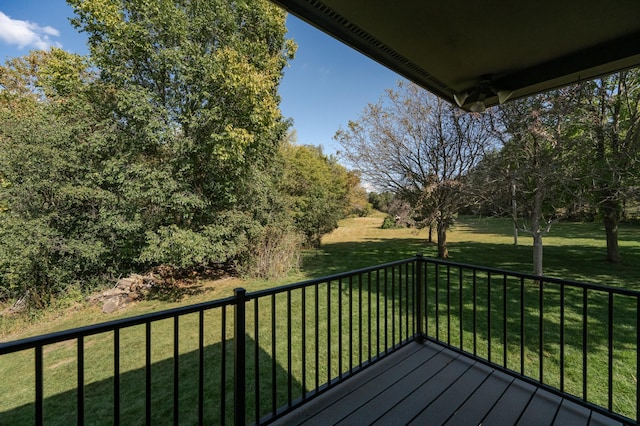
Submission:
[[[427,243],[427,230],[380,229],[384,215],[350,218],[325,236],[322,247],[303,254],[300,270],[277,281],[228,278],[203,281],[175,298],[155,298],[132,305],[111,315],[100,307],[76,305],[32,318],[0,317],[0,341],[50,333],[127,316],[170,309],[227,297],[236,287],[247,291],[318,278],[409,258],[416,253],[436,256],[435,244]],[[620,227],[623,261],[609,264],[605,258],[604,228],[599,223],[559,223],[544,238],[545,275],[640,290],[640,225]],[[529,273],[532,271],[531,238],[520,235],[513,245],[508,219],[460,217],[448,232],[452,261]]]

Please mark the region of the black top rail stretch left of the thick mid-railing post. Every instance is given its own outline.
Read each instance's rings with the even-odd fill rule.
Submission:
[[[25,349],[31,349],[37,346],[50,345],[52,343],[63,342],[65,340],[76,339],[81,336],[85,337],[93,334],[113,331],[116,329],[146,324],[152,321],[173,318],[175,316],[191,314],[202,310],[219,308],[224,305],[232,305],[235,303],[235,300],[235,297],[227,297],[224,299],[217,299],[194,305],[181,306],[164,311],[152,312],[150,314],[137,315],[134,317],[122,318],[119,320],[92,324],[84,327],[73,328],[70,330],[58,331],[55,333],[43,334],[40,336],[27,337],[20,340],[0,343],[0,355],[11,352],[18,352]]]

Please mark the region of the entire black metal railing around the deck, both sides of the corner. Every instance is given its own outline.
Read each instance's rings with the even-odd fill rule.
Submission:
[[[0,344],[0,423],[268,423],[424,339],[635,422],[638,330],[638,292],[417,256]]]

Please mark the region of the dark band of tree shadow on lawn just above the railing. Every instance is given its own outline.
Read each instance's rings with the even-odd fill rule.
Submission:
[[[526,241],[526,242],[525,242]],[[530,239],[518,246],[504,243],[452,242],[448,244],[453,262],[532,273],[533,252]],[[422,239],[373,240],[324,245],[303,258],[302,269],[308,276],[322,277],[347,272],[423,253],[435,257],[437,247]],[[590,245],[548,245],[544,247],[544,274],[568,280],[640,290],[640,247],[621,246],[623,261],[604,260],[604,248]]]

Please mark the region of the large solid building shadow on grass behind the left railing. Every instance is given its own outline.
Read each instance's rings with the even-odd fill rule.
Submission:
[[[246,336],[247,392],[246,422],[255,423],[255,342]],[[218,343],[204,348],[203,375],[203,419],[205,424],[233,424],[233,340],[224,345]],[[190,425],[199,423],[199,359],[200,352],[192,351],[178,359],[178,421],[174,422],[174,361],[172,358],[151,365],[151,421],[153,425],[174,423]],[[287,404],[288,374],[262,349],[258,351],[260,371],[260,415],[272,413],[273,406]],[[272,374],[272,365],[276,371]],[[275,404],[272,403],[272,378],[277,390]],[[45,386],[47,372],[45,371]],[[55,384],[53,385],[55,386]],[[292,380],[292,388],[302,393],[301,385]],[[89,383],[84,387],[84,422],[92,425],[114,424],[114,380],[113,378]],[[296,397],[297,395],[294,395]],[[4,396],[6,397],[6,396]],[[78,423],[77,390],[67,391],[44,400],[44,424],[68,425]],[[120,374],[120,423],[144,424],[146,419],[146,369],[139,368]],[[0,412],[2,424],[34,424],[34,403]]]

